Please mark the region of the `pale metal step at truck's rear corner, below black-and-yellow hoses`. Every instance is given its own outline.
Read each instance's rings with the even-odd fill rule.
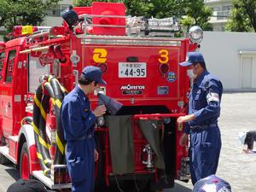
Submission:
[[[38,178],[49,189],[70,189],[71,184],[54,184],[49,177],[46,177],[43,171],[33,171],[32,176]]]

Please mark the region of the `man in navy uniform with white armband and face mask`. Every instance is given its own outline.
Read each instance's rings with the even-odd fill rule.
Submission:
[[[187,74],[193,81],[189,114],[179,117],[177,123],[186,123],[180,144],[184,145],[190,136],[189,166],[195,184],[217,171],[221,148],[218,117],[223,86],[218,78],[208,73],[201,53],[189,52],[187,61],[180,65],[187,67]]]

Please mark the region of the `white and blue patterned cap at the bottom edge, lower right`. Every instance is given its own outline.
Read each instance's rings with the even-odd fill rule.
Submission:
[[[231,186],[224,179],[210,175],[197,181],[192,192],[231,192]]]

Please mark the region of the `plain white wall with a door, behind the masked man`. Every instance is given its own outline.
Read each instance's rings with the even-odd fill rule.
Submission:
[[[204,32],[200,52],[224,90],[256,90],[256,33]]]

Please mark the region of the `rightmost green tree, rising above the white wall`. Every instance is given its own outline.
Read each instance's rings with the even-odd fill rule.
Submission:
[[[256,1],[233,0],[230,20],[225,28],[231,32],[256,32]]]

